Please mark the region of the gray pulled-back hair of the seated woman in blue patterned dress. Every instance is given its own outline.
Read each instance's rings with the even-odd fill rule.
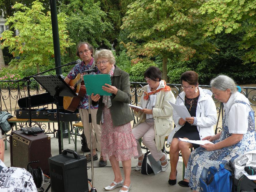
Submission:
[[[234,80],[226,75],[219,75],[211,80],[210,85],[221,91],[226,91],[227,89],[231,90],[231,93],[237,91],[236,83]]]

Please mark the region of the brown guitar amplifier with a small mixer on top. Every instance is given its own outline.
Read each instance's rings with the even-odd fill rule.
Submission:
[[[49,174],[48,158],[51,157],[51,137],[45,133],[27,135],[22,131],[12,131],[10,137],[11,166],[27,169],[41,167],[44,174]]]

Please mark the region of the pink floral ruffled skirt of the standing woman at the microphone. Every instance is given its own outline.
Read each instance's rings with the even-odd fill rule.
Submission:
[[[138,155],[137,143],[131,131],[131,123],[114,126],[110,109],[103,109],[101,124],[101,151],[104,160],[115,155],[117,161],[126,161]],[[117,117],[118,118],[118,117]]]

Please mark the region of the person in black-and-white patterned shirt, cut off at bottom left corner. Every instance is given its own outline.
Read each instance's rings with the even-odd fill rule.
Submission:
[[[24,168],[6,167],[4,161],[4,142],[6,136],[0,128],[0,191],[37,192],[33,176]]]

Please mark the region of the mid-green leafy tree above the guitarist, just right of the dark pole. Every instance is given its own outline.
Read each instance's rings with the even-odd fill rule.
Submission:
[[[105,34],[112,29],[112,25],[106,21],[106,13],[100,9],[100,2],[63,1],[60,10],[69,16],[67,29],[75,43],[87,41],[94,48],[111,49],[111,43]],[[76,45],[69,50],[70,57],[74,57],[75,49]]]

